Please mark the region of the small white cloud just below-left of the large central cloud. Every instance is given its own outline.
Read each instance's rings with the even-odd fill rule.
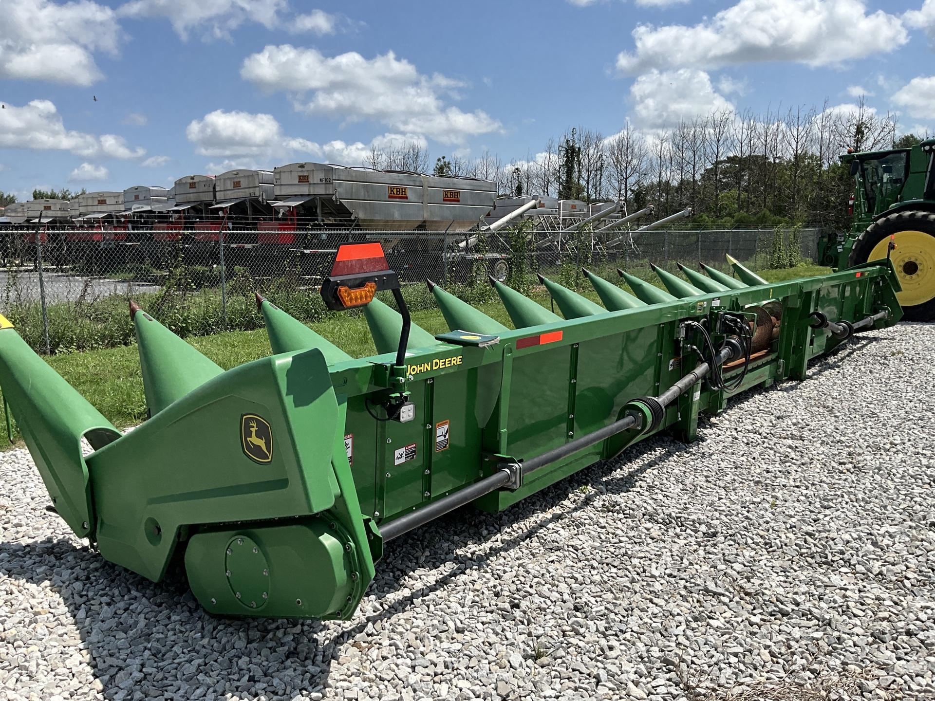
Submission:
[[[196,153],[215,158],[280,158],[295,151],[321,155],[318,144],[283,135],[280,122],[271,114],[215,109],[193,120],[185,136],[194,144]]]

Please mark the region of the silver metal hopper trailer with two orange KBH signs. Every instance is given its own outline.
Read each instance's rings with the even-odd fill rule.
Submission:
[[[409,171],[295,163],[273,171],[275,196],[323,224],[374,229],[469,229],[494,204],[496,184]]]

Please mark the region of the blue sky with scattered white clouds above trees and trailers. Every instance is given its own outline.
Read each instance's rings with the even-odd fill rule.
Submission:
[[[404,140],[509,162],[573,125],[860,93],[935,130],[933,47],[935,0],[3,0],[0,190],[359,165]]]

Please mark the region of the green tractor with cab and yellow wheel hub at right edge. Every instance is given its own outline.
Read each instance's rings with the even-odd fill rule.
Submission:
[[[820,259],[840,269],[885,258],[890,252],[905,318],[935,320],[935,138],[911,149],[847,153],[854,193],[846,234],[820,244]]]

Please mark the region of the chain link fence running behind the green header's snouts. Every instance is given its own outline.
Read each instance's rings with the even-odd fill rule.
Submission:
[[[131,342],[130,298],[180,336],[259,328],[254,292],[298,319],[320,320],[327,312],[318,287],[338,245],[348,241],[379,241],[410,307],[418,309],[432,306],[419,284],[425,279],[474,301],[489,298],[488,276],[528,292],[537,273],[582,287],[582,267],[616,279],[619,266],[656,281],[650,263],[672,272],[676,262],[726,269],[726,253],[753,269],[791,267],[813,262],[822,231],[685,228],[597,237],[587,227],[559,233],[520,226],[487,235],[317,229],[290,236],[158,230],[0,236],[2,310],[33,348],[51,353]]]

